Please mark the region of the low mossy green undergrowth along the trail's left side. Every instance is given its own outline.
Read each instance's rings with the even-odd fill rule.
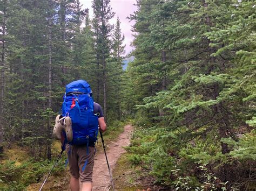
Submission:
[[[124,131],[124,125],[124,122],[119,121],[113,121],[108,124],[107,131],[103,134],[106,146],[111,141],[117,139],[118,135]],[[98,140],[99,144],[96,146],[101,150],[102,144],[100,135],[98,135]],[[3,160],[0,164],[0,190],[25,190],[26,187],[32,183],[42,183],[57,160],[59,149],[60,143],[53,142],[52,152],[55,153],[55,156],[49,161],[38,157],[35,158],[29,155],[29,153],[22,151],[20,147],[16,148],[16,150],[19,151],[17,155],[6,155],[8,159]],[[19,160],[17,160],[17,157]],[[51,176],[59,176],[64,173],[65,160],[66,155],[64,152],[57,166],[53,168]]]

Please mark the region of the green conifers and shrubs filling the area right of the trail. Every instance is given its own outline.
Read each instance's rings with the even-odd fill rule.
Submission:
[[[183,183],[203,184],[198,164],[207,163],[207,173],[245,189],[255,177],[255,3],[137,6],[124,105],[138,119],[131,161],[163,185],[177,182],[174,166]]]

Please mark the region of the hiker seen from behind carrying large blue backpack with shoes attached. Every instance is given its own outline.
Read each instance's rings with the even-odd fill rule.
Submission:
[[[64,95],[62,115],[56,117],[53,130],[53,136],[56,139],[65,137],[65,142],[68,142],[66,150],[72,191],[79,190],[79,179],[82,182],[82,191],[92,190],[95,142],[98,130],[100,132],[106,130],[102,107],[93,102],[91,96],[92,91],[86,81],[78,80],[68,84]]]

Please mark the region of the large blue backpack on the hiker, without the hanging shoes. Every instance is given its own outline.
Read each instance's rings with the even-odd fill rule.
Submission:
[[[70,145],[96,143],[98,136],[98,116],[93,114],[92,90],[85,80],[77,80],[66,85],[63,96],[62,116],[72,121],[73,140]]]

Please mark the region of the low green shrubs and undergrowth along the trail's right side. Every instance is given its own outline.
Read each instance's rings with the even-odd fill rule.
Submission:
[[[131,144],[126,147],[127,158],[153,176],[156,185],[177,190],[255,188],[255,130],[245,133],[239,142],[221,140],[232,148],[223,154],[210,133],[204,140],[180,144],[178,132],[147,125],[136,122]]]

